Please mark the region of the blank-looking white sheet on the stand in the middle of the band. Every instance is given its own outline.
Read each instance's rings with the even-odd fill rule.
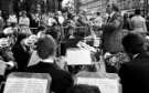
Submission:
[[[85,49],[68,49],[66,61],[68,65],[92,64],[91,51]]]

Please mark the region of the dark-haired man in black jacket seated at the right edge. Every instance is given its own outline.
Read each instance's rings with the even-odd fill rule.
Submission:
[[[123,39],[123,45],[131,58],[119,70],[123,93],[149,93],[149,53],[142,35],[129,33]]]

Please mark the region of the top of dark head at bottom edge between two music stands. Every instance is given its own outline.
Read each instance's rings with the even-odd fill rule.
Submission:
[[[66,93],[100,93],[100,91],[97,86],[79,84],[68,89]]]

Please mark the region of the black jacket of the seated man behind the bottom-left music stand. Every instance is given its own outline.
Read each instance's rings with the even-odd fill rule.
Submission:
[[[33,73],[49,73],[52,76],[51,91],[55,93],[65,93],[66,90],[73,85],[71,74],[57,69],[52,63],[40,62],[30,66],[26,71]]]

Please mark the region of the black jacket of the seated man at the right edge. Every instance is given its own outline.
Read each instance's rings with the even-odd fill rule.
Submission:
[[[149,53],[121,65],[123,93],[149,93]]]

